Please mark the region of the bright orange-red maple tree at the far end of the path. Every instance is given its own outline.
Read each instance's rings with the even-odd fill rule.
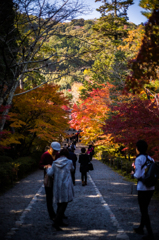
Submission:
[[[89,93],[89,97],[73,107],[70,124],[72,128],[82,130],[82,141],[85,144],[92,141],[102,144],[103,140],[108,138],[108,136],[103,136],[102,126],[107,118],[108,106],[111,102],[110,88],[110,84],[103,84],[101,89],[94,89]]]

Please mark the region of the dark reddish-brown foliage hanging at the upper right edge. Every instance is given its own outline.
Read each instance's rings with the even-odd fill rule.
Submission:
[[[145,26],[145,35],[140,51],[129,63],[132,75],[127,77],[127,89],[140,92],[144,84],[158,78],[159,66],[159,9],[154,10]]]

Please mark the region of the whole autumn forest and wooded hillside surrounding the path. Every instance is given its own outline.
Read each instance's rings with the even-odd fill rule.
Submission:
[[[76,18],[89,11],[81,1],[0,3],[1,186],[36,169],[70,127],[98,158],[130,170],[139,139],[159,159],[158,3],[141,0],[148,20],[135,25],[133,0],[96,1],[93,20]]]

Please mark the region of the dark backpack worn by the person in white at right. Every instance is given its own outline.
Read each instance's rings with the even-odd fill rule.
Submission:
[[[155,186],[159,178],[159,165],[146,156],[146,162],[142,165],[141,169],[143,169],[144,166],[147,166],[145,175],[139,180],[142,181],[146,187]]]

